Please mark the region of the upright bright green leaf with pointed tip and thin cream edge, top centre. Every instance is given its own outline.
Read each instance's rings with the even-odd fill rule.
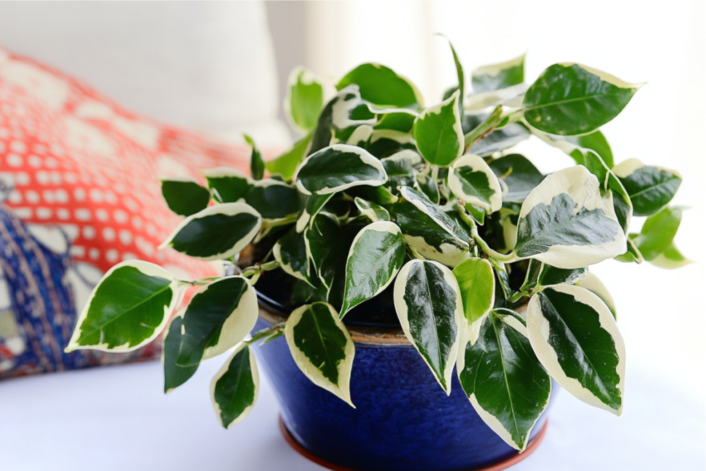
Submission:
[[[414,120],[412,133],[417,150],[433,165],[448,167],[463,153],[459,100],[460,95],[456,92],[448,100],[424,109]]]

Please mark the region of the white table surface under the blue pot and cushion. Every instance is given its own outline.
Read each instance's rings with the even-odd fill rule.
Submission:
[[[323,470],[282,439],[267,378],[250,417],[220,427],[208,385],[222,361],[166,396],[159,362],[2,381],[0,470]],[[703,399],[673,384],[628,364],[622,417],[561,391],[544,442],[513,471],[704,470]]]

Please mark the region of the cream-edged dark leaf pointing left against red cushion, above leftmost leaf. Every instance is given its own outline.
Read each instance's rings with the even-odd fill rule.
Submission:
[[[176,251],[201,260],[225,260],[245,249],[260,230],[262,218],[246,203],[209,206],[187,217],[159,249]]]

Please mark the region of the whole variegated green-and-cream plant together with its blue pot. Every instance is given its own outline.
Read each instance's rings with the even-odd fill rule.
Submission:
[[[258,357],[289,441],[337,469],[501,469],[538,443],[556,383],[620,415],[625,349],[588,267],[688,263],[668,205],[679,174],[614,165],[599,131],[640,85],[555,64],[527,86],[519,57],[475,70],[467,93],[451,51],[458,85],[429,107],[378,64],[328,101],[293,71],[291,149],[264,162],[247,138],[250,176],[162,181],[185,217],[163,247],[223,261],[225,275],[119,263],[66,350],[134,350],[166,329],[165,392],[232,350],[211,383],[223,427],[256,402]],[[542,174],[510,150],[530,136],[576,165]],[[633,216],[647,217],[636,234]]]

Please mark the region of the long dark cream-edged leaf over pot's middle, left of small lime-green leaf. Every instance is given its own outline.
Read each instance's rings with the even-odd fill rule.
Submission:
[[[453,272],[434,261],[412,260],[395,280],[395,310],[402,330],[447,395],[465,330],[463,304]]]

